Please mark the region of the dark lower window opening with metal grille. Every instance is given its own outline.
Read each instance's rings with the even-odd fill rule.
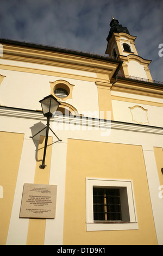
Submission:
[[[122,221],[120,190],[93,187],[94,221]]]

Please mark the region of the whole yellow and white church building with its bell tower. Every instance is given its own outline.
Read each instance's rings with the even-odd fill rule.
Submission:
[[[1,245],[163,245],[163,83],[130,33],[0,39]]]

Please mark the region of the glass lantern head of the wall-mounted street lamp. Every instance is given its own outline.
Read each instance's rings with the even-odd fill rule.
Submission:
[[[53,95],[49,95],[39,102],[41,103],[42,112],[45,117],[52,117],[60,105],[60,102]]]

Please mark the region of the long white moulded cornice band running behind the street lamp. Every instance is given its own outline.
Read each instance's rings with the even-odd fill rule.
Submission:
[[[14,109],[14,108],[5,108],[0,107],[0,116],[5,117],[14,117],[22,119],[35,119],[46,121],[47,118],[43,116],[42,112],[38,111],[28,111],[24,109]],[[120,121],[110,121],[98,118],[89,118],[89,117],[69,117],[68,115],[57,115],[56,117],[51,118],[51,122],[71,124],[71,125],[82,125],[82,126],[91,126],[91,127],[100,127],[101,129],[114,129],[122,131],[131,131],[131,132],[143,132],[143,133],[153,133],[158,135],[163,135],[163,127],[154,127],[149,125],[139,125],[132,123],[124,123]]]

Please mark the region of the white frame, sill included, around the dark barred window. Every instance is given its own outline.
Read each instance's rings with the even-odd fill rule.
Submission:
[[[93,186],[126,188],[130,222],[96,222],[93,221]],[[86,231],[131,230],[139,229],[132,180],[86,178]]]

